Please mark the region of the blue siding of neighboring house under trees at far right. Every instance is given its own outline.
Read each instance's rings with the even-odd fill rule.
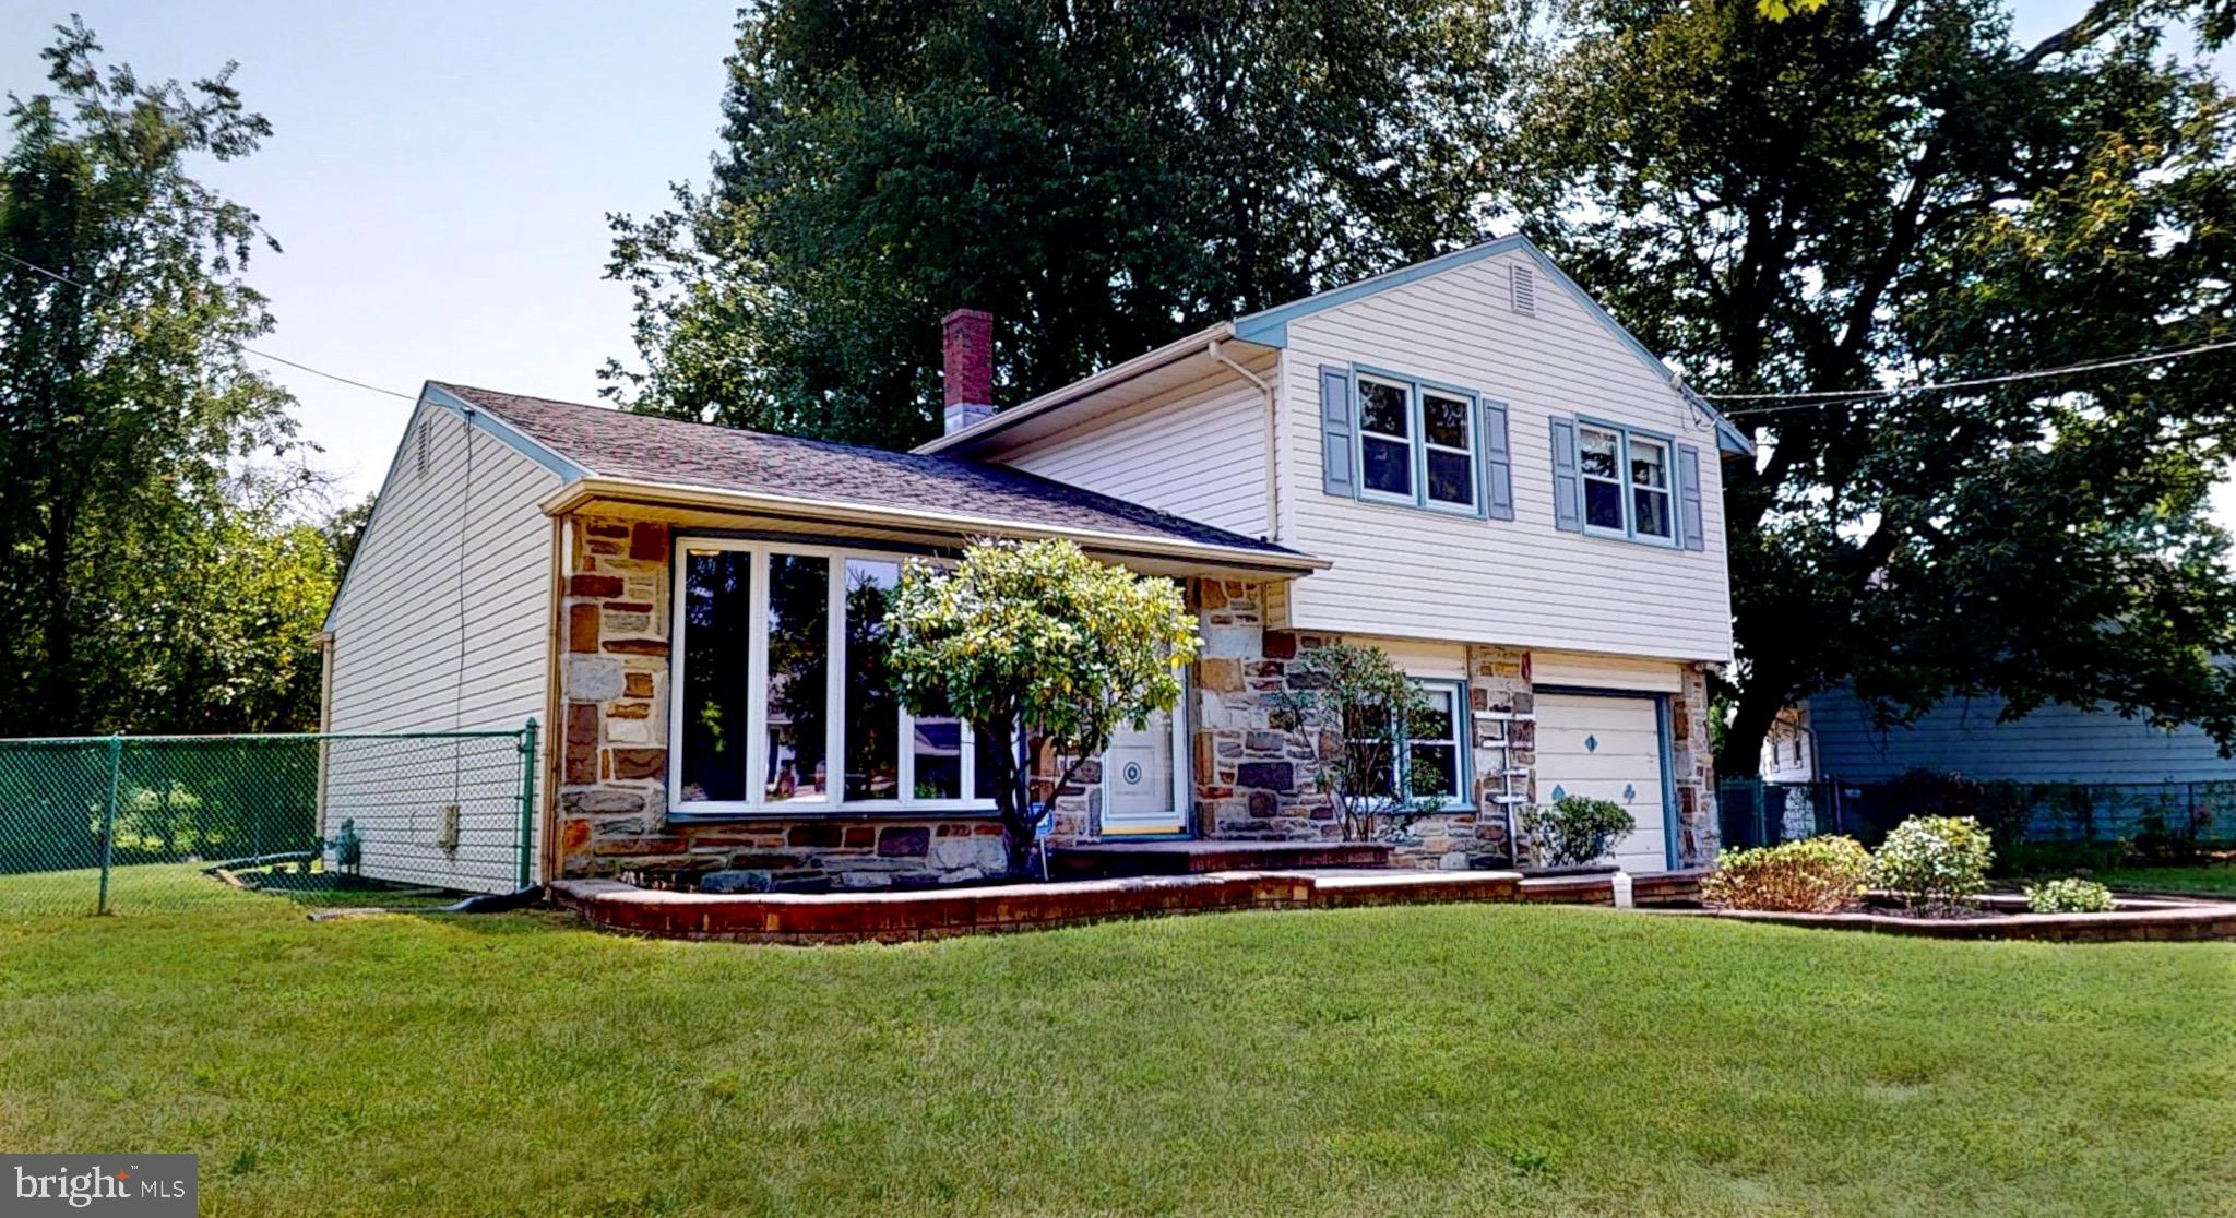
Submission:
[[[1907,769],[1945,769],[1979,780],[2015,782],[2227,782],[2236,760],[2223,758],[2198,729],[2158,731],[2117,713],[2041,706],[1999,724],[2003,702],[1943,702],[1910,726],[1878,731],[1872,711],[1847,691],[1809,700],[1818,773],[1878,782]]]

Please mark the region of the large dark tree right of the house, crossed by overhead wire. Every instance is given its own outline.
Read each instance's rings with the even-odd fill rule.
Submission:
[[[1851,391],[2236,335],[2236,98],[2100,0],[2033,47],[1974,2],[1590,0],[1512,145],[1525,215],[1711,393]],[[1851,682],[2111,706],[2236,740],[2207,492],[2229,353],[1965,391],[1731,402],[1740,646],[1724,773]]]

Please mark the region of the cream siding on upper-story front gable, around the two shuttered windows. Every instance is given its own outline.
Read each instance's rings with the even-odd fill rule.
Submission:
[[[1731,659],[1715,429],[1536,273],[1512,308],[1503,253],[1288,324],[1281,541],[1333,561],[1290,588],[1297,630],[1462,639],[1668,659]],[[1364,364],[1507,405],[1514,521],[1337,498],[1321,489],[1319,369]],[[1704,552],[1554,530],[1550,418],[1594,416],[1699,449]]]

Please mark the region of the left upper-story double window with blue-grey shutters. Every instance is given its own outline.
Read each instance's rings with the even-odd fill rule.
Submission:
[[[1487,416],[1480,398],[1465,389],[1380,371],[1357,371],[1355,387],[1357,496],[1371,503],[1480,516],[1485,469],[1491,465],[1485,458]],[[1503,407],[1496,420],[1500,434],[1491,449],[1503,460]],[[1496,469],[1503,472],[1503,465]],[[1337,483],[1339,478],[1330,478],[1330,489],[1342,494]]]

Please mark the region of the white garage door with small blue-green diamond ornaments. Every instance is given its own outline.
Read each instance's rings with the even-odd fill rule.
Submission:
[[[1614,845],[1626,872],[1666,872],[1661,717],[1652,697],[1541,693],[1538,798],[1588,796],[1623,805],[1639,827]]]

